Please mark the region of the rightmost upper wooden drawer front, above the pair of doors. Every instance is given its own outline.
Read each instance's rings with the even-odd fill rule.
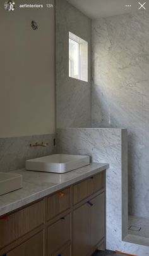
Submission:
[[[105,172],[98,173],[73,186],[73,204],[91,196],[105,187]]]

